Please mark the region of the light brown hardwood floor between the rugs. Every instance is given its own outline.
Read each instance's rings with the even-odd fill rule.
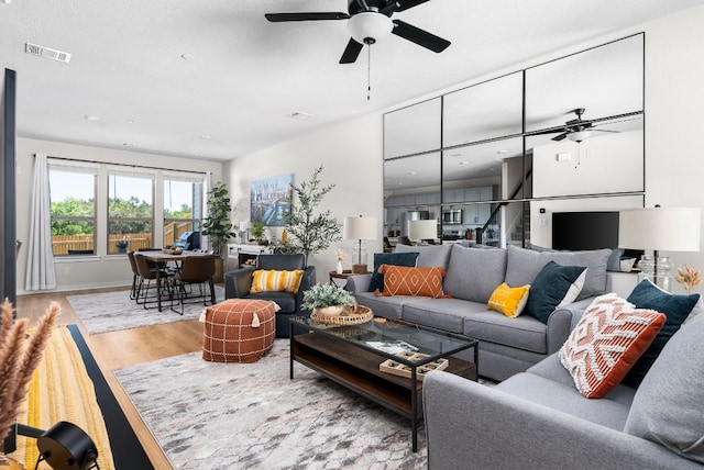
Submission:
[[[16,302],[16,314],[20,318],[30,318],[30,324],[34,324],[34,322],[44,314],[44,311],[52,301],[59,302],[62,305],[62,314],[58,323],[78,325],[112,393],[118,399],[122,411],[142,443],[154,468],[160,470],[170,468],[164,452],[162,452],[152,434],[146,426],[144,426],[142,418],[132,406],[130,399],[122,391],[122,388],[112,373],[112,369],[200,350],[202,324],[197,320],[191,320],[89,335],[78,316],[74,313],[70,304],[66,301],[66,296],[81,293],[111,292],[116,290],[124,289],[95,289],[79,292],[20,295]],[[125,300],[129,301],[129,292],[125,291],[124,294]]]

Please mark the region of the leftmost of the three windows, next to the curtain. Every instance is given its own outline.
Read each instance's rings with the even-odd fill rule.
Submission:
[[[55,256],[95,253],[96,169],[50,166]]]

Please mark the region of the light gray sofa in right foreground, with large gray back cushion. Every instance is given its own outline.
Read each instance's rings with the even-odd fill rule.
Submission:
[[[428,468],[704,468],[704,315],[667,343],[638,389],[581,395],[557,355],[496,387],[424,382]]]

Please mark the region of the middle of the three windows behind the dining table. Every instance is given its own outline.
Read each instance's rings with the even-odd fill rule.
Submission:
[[[154,176],[108,172],[108,254],[152,247]]]

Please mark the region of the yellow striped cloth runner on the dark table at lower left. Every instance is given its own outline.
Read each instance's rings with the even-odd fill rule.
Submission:
[[[59,421],[70,422],[90,436],[98,447],[101,470],[114,469],[92,381],[66,326],[57,326],[52,333],[18,416],[18,423],[40,429],[48,429]],[[11,456],[33,469],[38,458],[36,439],[18,436],[18,449]],[[48,468],[46,463],[42,467]]]

